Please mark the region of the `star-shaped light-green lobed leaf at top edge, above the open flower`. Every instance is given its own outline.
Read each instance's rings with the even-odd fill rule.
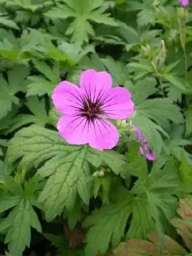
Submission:
[[[74,20],[70,23],[66,35],[71,35],[71,42],[77,45],[83,45],[83,42],[88,42],[89,36],[95,35],[89,20],[109,26],[118,26],[113,18],[108,17],[108,13],[104,13],[106,7],[100,0],[82,0],[78,4],[76,1],[69,3],[65,0],[64,2],[65,5],[58,4],[58,6],[46,12],[45,15],[52,19],[72,17]]]

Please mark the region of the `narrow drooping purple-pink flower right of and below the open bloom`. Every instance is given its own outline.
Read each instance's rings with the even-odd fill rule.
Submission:
[[[145,157],[148,160],[154,161],[156,159],[156,154],[152,154],[152,152],[150,150],[150,147],[147,143],[147,140],[143,137],[142,132],[135,125],[132,125],[132,128],[134,129],[134,131],[136,131],[136,135],[138,137],[138,140],[142,143],[142,145],[140,146],[140,154],[142,154],[142,155],[145,154]]]

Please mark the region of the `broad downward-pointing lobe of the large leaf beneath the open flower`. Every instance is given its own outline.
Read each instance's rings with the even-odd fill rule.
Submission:
[[[86,152],[86,148],[79,147],[74,148],[70,154],[65,152],[63,157],[57,154],[38,170],[41,179],[49,177],[39,198],[39,202],[45,205],[48,220],[60,215],[64,207],[72,209],[77,191],[84,203],[88,204],[91,197],[90,184],[85,179],[90,175],[90,168],[86,162]]]

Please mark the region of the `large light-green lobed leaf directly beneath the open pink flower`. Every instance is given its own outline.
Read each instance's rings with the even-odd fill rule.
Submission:
[[[67,145],[58,132],[32,125],[17,132],[10,141],[6,160],[13,166],[22,157],[20,165],[28,164],[29,168],[46,161],[37,173],[42,180],[48,177],[39,200],[45,205],[47,219],[52,220],[64,207],[74,207],[77,192],[88,204],[91,187],[90,182],[85,182],[90,175],[87,154],[87,147]]]

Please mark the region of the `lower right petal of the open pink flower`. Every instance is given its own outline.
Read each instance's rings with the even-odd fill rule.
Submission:
[[[90,127],[90,147],[99,150],[111,149],[116,146],[119,134],[116,127],[104,119],[95,119]]]

